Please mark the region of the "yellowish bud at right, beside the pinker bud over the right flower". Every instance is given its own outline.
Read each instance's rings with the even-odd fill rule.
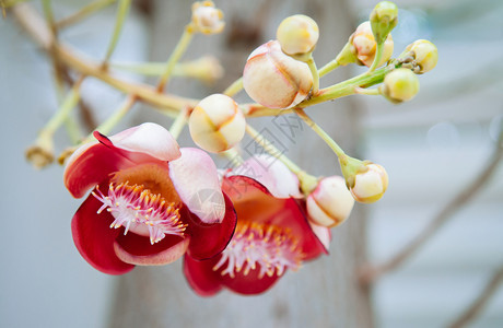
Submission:
[[[388,174],[383,166],[374,163],[364,163],[366,171],[354,176],[350,191],[359,202],[375,202],[379,200],[388,188]]]

